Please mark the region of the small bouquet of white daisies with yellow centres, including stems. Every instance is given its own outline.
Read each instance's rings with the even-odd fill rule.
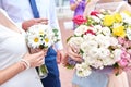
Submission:
[[[59,40],[60,39],[58,36],[58,29],[52,29],[48,25],[44,24],[33,25],[26,32],[26,42],[31,50],[32,49],[47,50],[49,47],[51,47]],[[45,63],[38,67],[38,74],[41,78],[47,76],[48,70]]]

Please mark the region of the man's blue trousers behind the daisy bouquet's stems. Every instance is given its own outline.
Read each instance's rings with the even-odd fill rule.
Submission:
[[[45,87],[61,87],[56,57],[57,52],[52,48],[49,48],[45,58],[45,63],[49,73],[46,78],[41,79]]]

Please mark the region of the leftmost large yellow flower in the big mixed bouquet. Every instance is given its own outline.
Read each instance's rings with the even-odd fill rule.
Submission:
[[[115,17],[112,15],[105,15],[104,25],[111,26],[115,23]]]

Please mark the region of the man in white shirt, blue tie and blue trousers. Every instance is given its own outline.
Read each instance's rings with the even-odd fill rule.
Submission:
[[[55,0],[36,0],[35,7],[37,8],[37,10],[35,9],[35,11],[31,5],[31,1],[33,0],[0,0],[0,8],[4,9],[9,16],[16,23],[21,23],[32,18],[46,18],[48,20],[48,24],[52,28],[59,29],[59,35],[61,38],[60,28],[58,25],[55,10]],[[28,24],[35,24],[35,22],[37,21],[35,20],[31,21],[29,23],[24,23],[23,28],[26,29],[26,27],[28,27]],[[44,21],[41,21],[41,23],[43,22]],[[45,63],[47,65],[49,74],[46,78],[41,79],[44,87],[61,87],[57,61],[60,62],[61,59],[64,58],[62,41],[56,44],[55,49],[56,50],[53,50],[53,48],[49,48],[45,58]]]

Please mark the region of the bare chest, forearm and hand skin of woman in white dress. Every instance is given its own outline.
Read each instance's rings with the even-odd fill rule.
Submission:
[[[0,20],[1,25],[8,27],[11,30],[14,30],[21,34],[19,28],[12,22],[10,22],[9,18],[7,18],[7,16],[4,16],[2,12],[0,12],[0,17],[1,17]],[[36,67],[43,64],[43,58],[45,55],[46,55],[46,52],[41,50],[33,54],[27,52],[23,55],[22,59],[24,59],[25,61],[29,63],[29,67]],[[8,82],[9,79],[14,77],[19,73],[23,72],[24,70],[26,70],[26,65],[25,65],[25,62],[23,61],[19,61],[5,69],[0,70],[0,85]]]

